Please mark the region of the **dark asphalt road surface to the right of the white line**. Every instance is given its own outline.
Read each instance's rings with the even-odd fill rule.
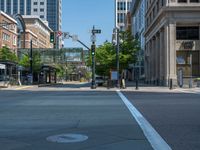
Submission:
[[[124,94],[173,150],[200,150],[199,93]]]

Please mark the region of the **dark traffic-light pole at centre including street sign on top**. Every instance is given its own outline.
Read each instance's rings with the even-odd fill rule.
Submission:
[[[91,46],[91,53],[92,53],[92,84],[91,84],[91,89],[96,89],[96,82],[95,82],[95,49],[96,49],[96,34],[100,34],[101,30],[95,29],[93,26],[92,29],[92,35],[91,35],[91,41],[92,41],[92,46]]]

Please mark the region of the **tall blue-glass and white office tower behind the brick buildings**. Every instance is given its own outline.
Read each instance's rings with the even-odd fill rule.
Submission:
[[[60,31],[62,20],[62,0],[0,0],[0,10],[9,15],[37,15],[49,23],[54,31]],[[61,39],[56,43],[61,47]]]

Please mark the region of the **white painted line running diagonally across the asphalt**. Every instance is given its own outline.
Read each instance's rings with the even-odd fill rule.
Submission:
[[[141,127],[144,135],[146,136],[153,149],[172,150],[171,147],[165,142],[165,140],[156,132],[152,125],[142,116],[137,108],[135,108],[135,106],[120,92],[120,90],[117,90],[117,93]]]

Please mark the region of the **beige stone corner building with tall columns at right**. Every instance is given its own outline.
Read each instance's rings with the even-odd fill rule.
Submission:
[[[200,76],[200,1],[147,0],[145,75],[147,82],[178,85]]]

